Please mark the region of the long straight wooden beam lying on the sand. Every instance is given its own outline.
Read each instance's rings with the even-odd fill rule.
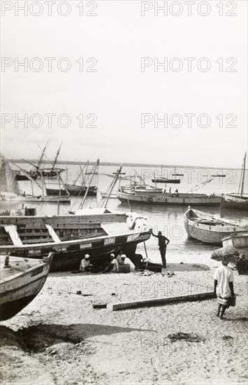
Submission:
[[[163,304],[171,304],[177,302],[187,301],[202,301],[210,300],[215,297],[214,292],[191,294],[191,295],[179,295],[178,297],[159,297],[149,298],[148,300],[138,300],[130,302],[117,302],[107,305],[107,310],[124,310],[124,309],[136,309],[137,307],[150,307],[161,306]]]

